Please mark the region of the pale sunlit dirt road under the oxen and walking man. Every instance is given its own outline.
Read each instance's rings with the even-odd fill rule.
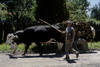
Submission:
[[[70,60],[64,60],[64,54],[55,53],[12,55],[11,53],[0,52],[0,67],[100,67],[100,51],[92,51],[80,54],[77,59],[74,54],[70,54]]]

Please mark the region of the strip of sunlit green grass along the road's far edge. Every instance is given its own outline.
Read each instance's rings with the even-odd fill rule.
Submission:
[[[49,49],[57,49],[57,47],[55,48],[56,46],[53,46],[53,45],[48,45],[47,48]],[[1,44],[0,45],[0,51],[13,51],[13,50],[10,50],[10,45],[6,45],[5,43]],[[36,46],[30,46],[28,50],[31,50],[32,48],[34,49],[38,49]],[[88,43],[88,48],[89,49],[99,49],[100,48],[100,41],[99,42],[94,42],[94,43]],[[49,50],[47,49],[47,50]],[[17,48],[17,51],[24,51],[25,48],[23,45],[19,45],[18,48]]]

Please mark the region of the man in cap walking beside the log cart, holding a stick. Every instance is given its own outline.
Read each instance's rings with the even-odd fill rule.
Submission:
[[[76,54],[76,58],[78,58],[79,52],[72,48],[72,44],[74,42],[74,37],[75,37],[75,30],[71,26],[72,25],[71,21],[67,21],[66,23],[67,23],[67,28],[65,30],[65,32],[66,32],[66,37],[65,37],[66,59],[69,59],[69,51]],[[59,30],[59,32],[62,33],[61,30]]]

